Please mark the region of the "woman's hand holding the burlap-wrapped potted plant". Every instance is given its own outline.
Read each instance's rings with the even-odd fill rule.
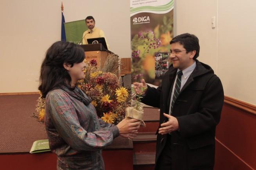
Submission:
[[[128,133],[136,133],[140,128],[140,120],[138,119],[128,119],[125,118],[117,125],[120,135],[128,134]]]

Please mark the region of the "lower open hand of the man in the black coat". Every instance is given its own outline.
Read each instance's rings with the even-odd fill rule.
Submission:
[[[160,133],[161,135],[165,135],[167,133],[171,133],[172,131],[177,131],[179,129],[178,120],[171,115],[167,115],[165,113],[163,113],[163,115],[169,120],[168,122],[161,124],[161,128],[158,129],[158,133]]]

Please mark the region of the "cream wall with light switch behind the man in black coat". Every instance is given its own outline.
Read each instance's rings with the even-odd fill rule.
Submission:
[[[224,94],[251,104],[256,104],[255,9],[254,0],[176,0],[175,11],[175,35],[197,35],[198,59],[215,70]]]

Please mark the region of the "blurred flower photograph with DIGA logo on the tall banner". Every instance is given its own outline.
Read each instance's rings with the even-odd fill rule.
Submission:
[[[131,16],[132,81],[142,78],[147,83],[160,84],[161,76],[171,62],[159,59],[170,52],[173,37],[173,10],[165,14],[141,12]],[[156,64],[156,62],[158,62]],[[161,66],[161,71],[159,68]]]

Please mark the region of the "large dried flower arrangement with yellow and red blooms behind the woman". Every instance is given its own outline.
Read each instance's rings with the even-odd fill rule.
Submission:
[[[129,115],[125,113],[126,108],[131,107],[131,89],[121,87],[116,75],[120,66],[118,56],[107,57],[102,68],[97,65],[95,59],[86,62],[85,78],[78,81],[77,85],[92,99],[91,104],[95,106],[98,117],[111,124],[118,124],[125,117],[132,117],[134,113]],[[37,100],[36,112],[33,113],[33,117],[39,122],[44,122],[45,99],[41,96]],[[142,111],[142,108],[138,106],[134,109]],[[142,120],[143,116],[134,118]],[[145,123],[143,122],[143,124]]]

